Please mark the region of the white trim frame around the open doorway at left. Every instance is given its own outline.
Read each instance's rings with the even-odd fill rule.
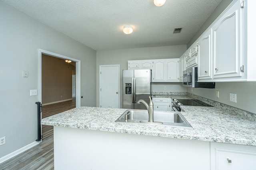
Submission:
[[[38,49],[38,68],[39,68],[39,71],[38,71],[38,79],[39,79],[38,80],[39,81],[39,83],[38,83],[38,99],[39,99],[39,102],[42,103],[42,54],[46,54],[46,55],[50,55],[52,57],[57,57],[60,59],[65,59],[65,60],[67,59],[67,60],[76,62],[76,107],[80,107],[81,106],[81,99],[80,99],[80,96],[81,96],[81,84],[80,84],[81,61],[71,58],[71,57],[60,55],[57,53],[52,53],[50,51],[46,51],[43,49]],[[41,115],[41,119],[42,119],[42,115]]]

